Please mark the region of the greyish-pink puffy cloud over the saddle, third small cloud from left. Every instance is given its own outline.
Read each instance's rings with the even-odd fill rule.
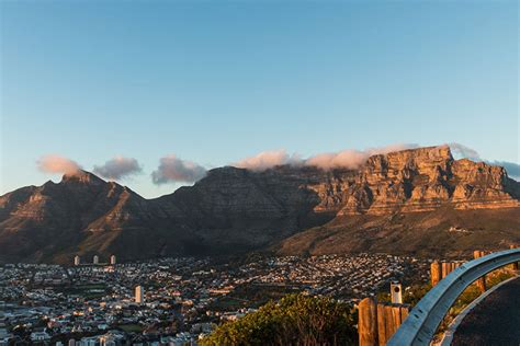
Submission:
[[[159,166],[151,173],[151,180],[157,185],[170,182],[194,183],[204,175],[206,169],[202,165],[170,154],[159,160]]]

